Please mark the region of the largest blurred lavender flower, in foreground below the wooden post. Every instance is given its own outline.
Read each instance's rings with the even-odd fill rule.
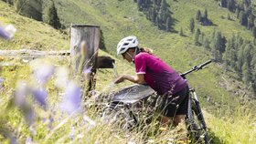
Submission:
[[[80,108],[81,89],[75,83],[69,82],[65,91],[63,102],[60,104],[60,108],[69,114]]]

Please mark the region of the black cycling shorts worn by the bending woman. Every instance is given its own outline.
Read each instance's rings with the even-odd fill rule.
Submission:
[[[188,105],[189,88],[184,87],[174,95],[164,96],[160,105],[161,114],[165,117],[186,115]]]

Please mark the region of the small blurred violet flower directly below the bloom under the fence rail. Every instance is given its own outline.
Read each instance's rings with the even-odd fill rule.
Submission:
[[[33,89],[32,94],[42,107],[46,107],[46,98],[48,97],[48,92],[44,87]]]

